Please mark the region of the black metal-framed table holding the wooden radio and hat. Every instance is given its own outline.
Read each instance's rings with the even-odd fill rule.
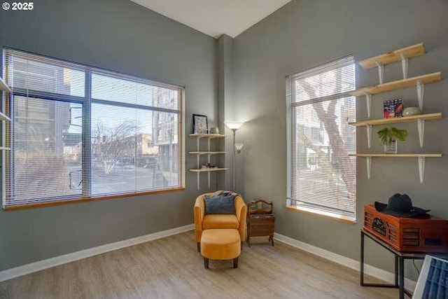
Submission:
[[[364,282],[364,237],[367,236],[372,239],[377,244],[381,245],[384,249],[387,249],[391,253],[393,253],[395,257],[395,283],[394,284],[370,284]],[[400,289],[400,299],[405,298],[405,294],[409,297],[412,297],[412,293],[405,290],[405,260],[423,260],[426,254],[430,254],[431,256],[440,256],[447,257],[448,253],[446,252],[402,252],[394,249],[392,246],[379,239],[378,237],[372,235],[367,230],[361,228],[361,244],[360,244],[360,285],[361,286],[377,286],[381,288],[399,288]]]

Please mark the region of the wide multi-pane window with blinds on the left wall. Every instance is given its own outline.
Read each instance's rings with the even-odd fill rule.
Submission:
[[[184,187],[183,88],[3,51],[3,207]]]

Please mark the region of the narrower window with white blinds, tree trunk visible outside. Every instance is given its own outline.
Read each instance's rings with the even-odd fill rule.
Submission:
[[[356,221],[353,57],[286,78],[290,209]]]

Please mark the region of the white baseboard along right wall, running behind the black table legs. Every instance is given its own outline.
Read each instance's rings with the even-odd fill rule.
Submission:
[[[345,256],[340,256],[337,253],[321,249],[319,247],[300,242],[297,239],[293,239],[290,237],[286,237],[285,235],[280,235],[274,232],[274,239],[276,239],[279,242],[288,244],[290,246],[293,246],[297,249],[301,249],[303,251],[307,251],[311,254],[314,254],[315,256],[320,256],[321,258],[325,258],[327,260],[331,260],[334,263],[338,263],[339,265],[343,265],[345,267],[349,267],[353,270],[360,270],[360,262],[358,260],[353,260],[352,258],[346,258]],[[377,267],[373,267],[371,265],[364,265],[364,272],[367,275],[370,275],[372,277],[375,277],[377,279],[381,279],[383,281],[386,281],[389,284],[393,284],[395,282],[395,274],[392,272],[388,272],[382,269],[379,269]],[[412,279],[405,278],[405,286],[409,290],[414,290],[416,285],[416,281],[413,281]]]

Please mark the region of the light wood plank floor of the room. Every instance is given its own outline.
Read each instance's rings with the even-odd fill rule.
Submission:
[[[398,298],[359,286],[358,272],[266,238],[244,243],[239,267],[204,269],[193,231],[146,242],[0,283],[0,298]]]

